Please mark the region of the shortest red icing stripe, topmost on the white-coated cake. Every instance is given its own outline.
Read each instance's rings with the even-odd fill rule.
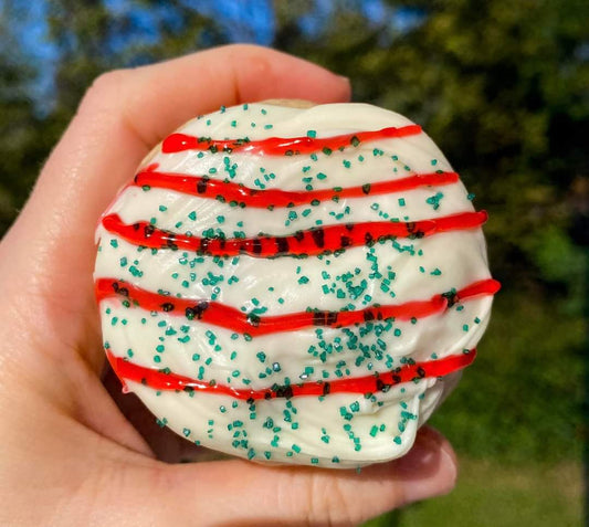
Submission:
[[[210,150],[212,152],[242,151],[259,156],[295,156],[323,151],[326,155],[334,150],[347,147],[357,147],[362,141],[408,137],[421,134],[418,125],[388,127],[380,130],[356,131],[333,137],[269,137],[266,139],[212,139],[210,137],[196,137],[186,134],[171,134],[164,139],[161,151],[173,154],[185,150]]]

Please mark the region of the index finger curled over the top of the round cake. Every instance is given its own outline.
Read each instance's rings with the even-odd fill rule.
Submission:
[[[180,124],[221,105],[271,97],[343,102],[349,84],[315,64],[251,45],[107,73],[84,97],[28,209],[71,209],[73,199],[82,212],[76,220],[94,219],[147,151]]]

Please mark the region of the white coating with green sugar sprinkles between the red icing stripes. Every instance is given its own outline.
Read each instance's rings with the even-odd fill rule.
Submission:
[[[261,103],[222,108],[189,122],[179,131],[254,141],[305,137],[309,130],[323,138],[410,124],[398,114],[362,104],[301,109]],[[365,141],[329,155],[164,154],[158,148],[150,156],[152,164],[162,172],[207,175],[249,188],[281,190],[347,188],[452,171],[423,133]],[[128,224],[150,221],[179,234],[250,238],[261,232],[288,235],[317,225],[419,221],[471,211],[471,199],[459,181],[273,210],[229,207],[207,197],[130,186],[105,214],[117,213]],[[154,293],[169,292],[172,297],[214,301],[261,317],[428,301],[490,278],[480,228],[398,238],[305,259],[145,250],[102,225],[97,239],[96,280],[115,278]],[[262,390],[274,383],[366,377],[408,360],[460,355],[481,338],[491,304],[492,295],[482,295],[417,320],[312,326],[253,338],[177,313],[126,307],[117,297],[102,299],[101,316],[105,347],[114,357],[192,379]],[[160,422],[197,444],[254,461],[357,467],[403,455],[418,428],[459,378],[459,371],[423,378],[368,397],[329,393],[254,403],[214,392],[156,390],[134,381],[126,386]]]

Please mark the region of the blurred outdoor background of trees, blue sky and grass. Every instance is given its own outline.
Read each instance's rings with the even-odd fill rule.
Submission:
[[[583,0],[0,0],[0,235],[101,72],[253,42],[349,76],[460,171],[503,283],[433,419],[457,488],[369,525],[587,525],[588,27]]]

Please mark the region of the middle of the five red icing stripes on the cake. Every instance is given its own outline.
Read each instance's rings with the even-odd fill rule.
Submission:
[[[146,221],[123,223],[118,214],[105,215],[104,228],[134,245],[150,249],[196,251],[209,256],[315,256],[346,247],[371,245],[392,238],[423,238],[432,234],[474,229],[487,219],[485,211],[462,212],[413,222],[376,221],[346,223],[297,231],[287,236],[198,238],[155,228]]]

